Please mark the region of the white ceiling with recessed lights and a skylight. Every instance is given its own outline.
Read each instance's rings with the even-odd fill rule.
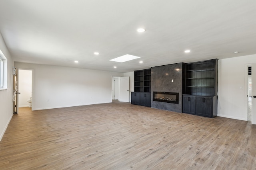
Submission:
[[[256,0],[0,0],[0,33],[14,61],[130,72],[256,54]]]

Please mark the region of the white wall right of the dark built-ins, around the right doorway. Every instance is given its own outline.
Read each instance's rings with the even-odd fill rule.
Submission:
[[[250,63],[256,63],[256,55],[218,61],[218,116],[247,121],[246,64]]]

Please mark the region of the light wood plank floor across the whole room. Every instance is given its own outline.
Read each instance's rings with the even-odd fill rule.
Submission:
[[[128,103],[20,108],[0,142],[1,170],[252,170],[256,126]]]

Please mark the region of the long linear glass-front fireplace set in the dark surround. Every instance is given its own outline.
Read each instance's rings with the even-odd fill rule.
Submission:
[[[179,104],[179,93],[153,92],[153,101]]]

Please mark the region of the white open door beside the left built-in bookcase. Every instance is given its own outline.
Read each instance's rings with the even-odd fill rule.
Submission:
[[[120,77],[120,102],[129,102],[129,77]]]

